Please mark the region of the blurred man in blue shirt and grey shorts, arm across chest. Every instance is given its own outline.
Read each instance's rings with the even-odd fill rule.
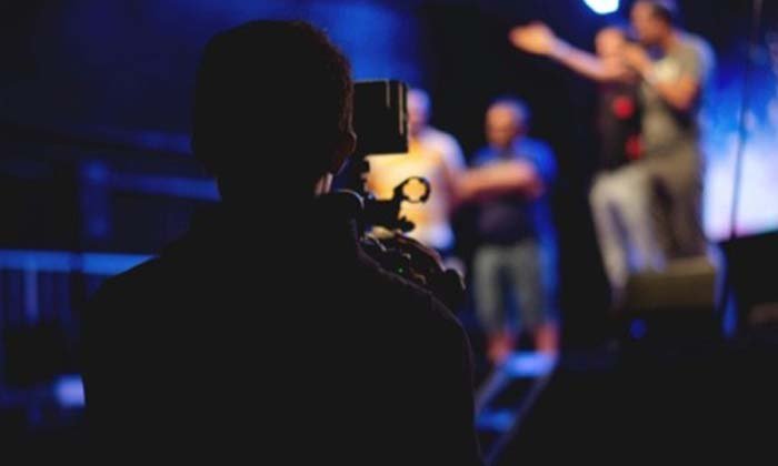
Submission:
[[[480,207],[473,293],[493,364],[510,355],[521,331],[535,336],[539,351],[558,348],[556,246],[547,202],[556,163],[546,143],[527,136],[528,120],[523,102],[495,101],[486,114],[488,145],[460,183],[462,199]]]

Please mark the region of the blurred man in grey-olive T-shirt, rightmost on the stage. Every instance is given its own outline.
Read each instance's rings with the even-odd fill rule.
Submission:
[[[699,111],[715,67],[710,45],[681,30],[675,1],[640,0],[631,23],[642,47],[625,49],[641,77],[642,148],[656,191],[657,235],[666,259],[702,255]]]

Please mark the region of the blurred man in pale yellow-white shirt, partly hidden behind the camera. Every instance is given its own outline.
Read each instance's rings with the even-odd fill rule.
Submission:
[[[368,188],[378,199],[389,199],[395,186],[408,178],[427,179],[430,197],[426,203],[403,203],[400,216],[415,225],[409,236],[435,247],[446,257],[455,246],[449,216],[457,202],[456,183],[465,168],[465,158],[453,136],[429,124],[430,112],[429,94],[411,89],[408,92],[408,153],[370,156]]]

